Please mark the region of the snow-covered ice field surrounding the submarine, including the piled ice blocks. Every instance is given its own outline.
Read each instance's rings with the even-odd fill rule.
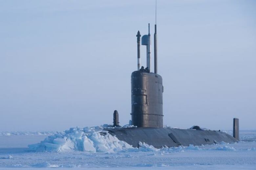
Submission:
[[[0,132],[0,169],[256,169],[256,130],[240,131],[240,139],[246,141],[138,149],[97,129]]]

